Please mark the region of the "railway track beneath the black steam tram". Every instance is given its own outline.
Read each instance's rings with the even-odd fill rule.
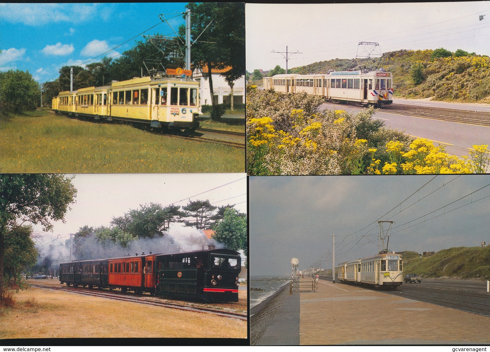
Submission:
[[[60,286],[49,286],[49,285],[39,285],[39,284],[29,284],[29,285],[38,288],[48,288],[50,290],[78,293],[86,296],[102,297],[111,300],[123,301],[123,302],[135,302],[135,303],[156,305],[165,308],[180,309],[180,310],[186,310],[186,311],[198,312],[198,313],[209,313],[209,314],[214,314],[226,318],[233,318],[233,319],[239,319],[244,321],[247,320],[247,315],[242,313],[227,312],[224,310],[212,309],[212,308],[201,308],[201,307],[195,307],[195,306],[190,306],[185,304],[159,302],[157,301],[158,298],[153,298],[153,300],[148,300],[145,298],[131,297],[125,295],[123,296],[122,294],[103,292],[97,290],[89,290],[89,289],[78,288],[78,287],[64,287],[64,286],[60,287]]]

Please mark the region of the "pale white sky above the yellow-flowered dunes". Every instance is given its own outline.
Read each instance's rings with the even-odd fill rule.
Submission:
[[[250,4],[246,69],[288,68],[355,58],[359,42],[400,49],[463,49],[490,55],[490,1],[341,4]],[[480,20],[480,16],[483,18]],[[365,54],[362,49],[359,54]],[[364,46],[369,50],[370,47]]]

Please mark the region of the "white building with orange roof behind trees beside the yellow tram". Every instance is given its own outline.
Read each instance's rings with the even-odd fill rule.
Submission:
[[[231,88],[228,82],[222,75],[223,72],[228,71],[230,68],[223,70],[212,70],[211,77],[213,79],[213,91],[215,101],[218,104],[229,104],[231,102]],[[200,83],[199,96],[201,97],[201,105],[211,105],[211,92],[208,82],[208,68],[196,68],[193,72],[194,80]],[[233,103],[245,104],[245,75],[235,80],[233,85]]]

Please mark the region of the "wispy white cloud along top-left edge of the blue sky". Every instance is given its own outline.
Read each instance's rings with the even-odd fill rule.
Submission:
[[[97,15],[100,4],[0,3],[0,18],[10,23],[45,25],[52,22],[81,23]]]

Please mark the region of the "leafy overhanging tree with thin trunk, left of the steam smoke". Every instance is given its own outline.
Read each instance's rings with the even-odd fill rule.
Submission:
[[[0,174],[0,300],[5,294],[3,270],[5,239],[11,241],[25,223],[41,224],[44,231],[51,221],[65,222],[74,202],[72,178],[61,174]]]

